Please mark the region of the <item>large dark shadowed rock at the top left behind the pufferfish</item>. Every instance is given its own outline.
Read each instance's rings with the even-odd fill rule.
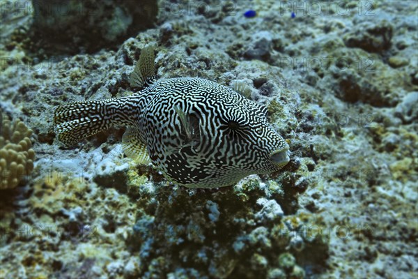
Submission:
[[[156,20],[156,0],[49,1],[33,3],[33,43],[49,54],[115,47]],[[71,38],[69,40],[69,38]]]

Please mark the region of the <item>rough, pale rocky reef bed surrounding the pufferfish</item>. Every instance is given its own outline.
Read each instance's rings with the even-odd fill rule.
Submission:
[[[54,59],[33,15],[3,17],[1,110],[37,144],[32,179],[0,195],[0,277],[417,278],[417,2],[187,3],[159,1],[156,25],[112,50]],[[146,45],[160,77],[245,84],[291,162],[187,190],[125,158],[124,128],[56,142],[54,108],[132,94]]]

